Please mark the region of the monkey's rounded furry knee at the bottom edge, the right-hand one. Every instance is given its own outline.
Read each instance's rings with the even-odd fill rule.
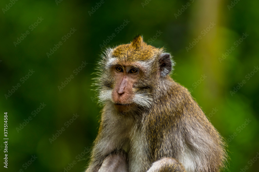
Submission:
[[[152,164],[147,172],[186,172],[183,165],[174,158],[162,158]]]

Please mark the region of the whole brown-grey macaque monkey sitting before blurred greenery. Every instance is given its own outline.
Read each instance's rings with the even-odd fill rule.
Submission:
[[[190,92],[171,78],[164,48],[136,36],[97,66],[100,127],[85,172],[218,172],[226,143]]]

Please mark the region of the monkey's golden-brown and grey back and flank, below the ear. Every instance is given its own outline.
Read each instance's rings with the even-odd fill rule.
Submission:
[[[220,134],[186,88],[170,85],[146,116],[150,161],[171,157],[186,171],[219,171],[226,157]]]

